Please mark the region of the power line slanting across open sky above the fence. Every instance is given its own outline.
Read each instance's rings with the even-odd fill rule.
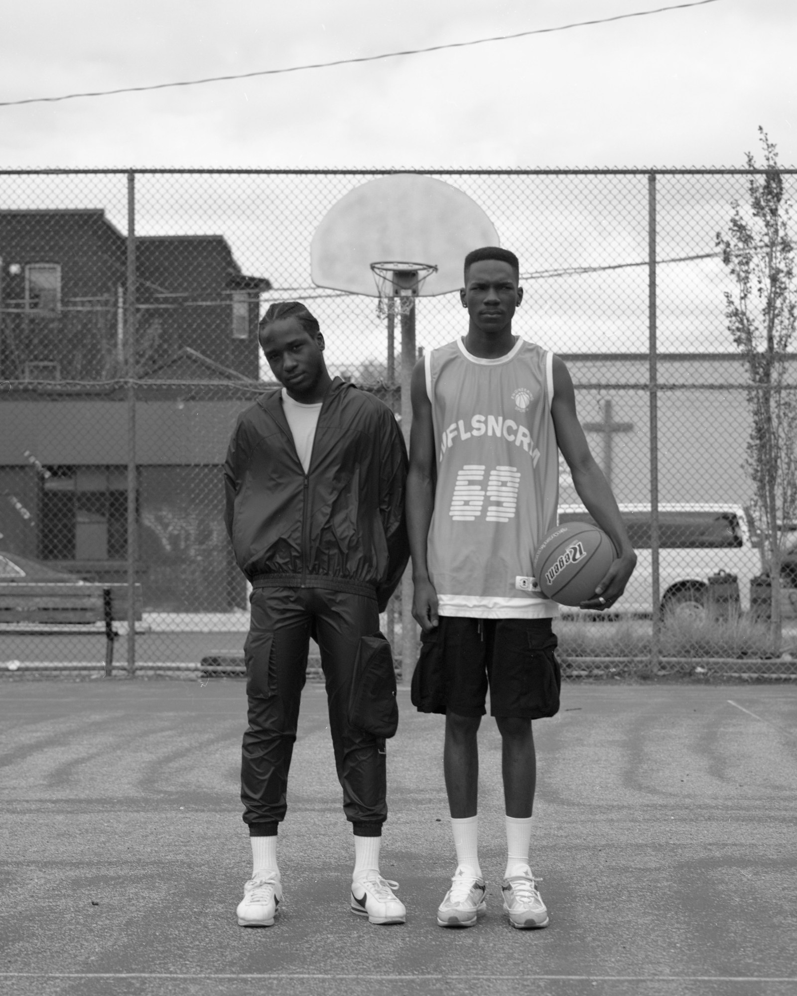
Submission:
[[[197,87],[205,83],[223,83],[229,80],[249,80],[256,76],[279,76],[284,73],[300,73],[308,69],[329,69],[332,66],[351,66],[356,63],[377,62],[381,59],[397,59],[399,56],[417,56],[428,52],[441,52],[444,49],[464,49],[473,45],[486,45],[488,42],[508,42],[514,38],[527,38],[529,35],[548,35],[556,31],[568,31],[571,28],[586,28],[594,24],[609,24],[611,21],[625,21],[632,17],[647,17],[649,14],[663,14],[667,10],[682,10],[685,7],[702,7],[718,0],[693,0],[692,3],[671,4],[668,7],[657,7],[655,10],[638,10],[631,14],[616,14],[614,17],[602,17],[592,21],[576,21],[573,24],[561,24],[555,28],[535,28],[531,31],[518,31],[513,35],[495,35],[492,38],[476,38],[470,42],[449,42],[445,45],[430,45],[423,49],[405,49],[400,52],[383,52],[377,56],[360,56],[355,59],[335,59],[326,63],[308,63],[305,66],[288,66],[285,69],[263,69],[255,73],[236,73],[231,76],[209,76],[201,80],[182,80],[178,83],[156,83],[147,87],[121,87],[118,90],[99,90],[85,94],[64,94],[61,97],[30,97],[24,101],[0,101],[0,108],[19,107],[22,104],[54,104],[58,101],[74,101],[82,97],[112,97],[116,94],[138,94],[150,90],[167,90],[173,87]]]

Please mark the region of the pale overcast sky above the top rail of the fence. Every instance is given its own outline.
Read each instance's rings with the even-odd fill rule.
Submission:
[[[0,100],[375,55],[667,0],[40,0],[5,4]],[[797,163],[793,0],[145,94],[0,108],[13,166]]]

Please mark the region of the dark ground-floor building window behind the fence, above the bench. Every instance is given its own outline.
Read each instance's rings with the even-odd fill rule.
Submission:
[[[42,481],[42,560],[105,561],[128,556],[126,467],[48,467]]]

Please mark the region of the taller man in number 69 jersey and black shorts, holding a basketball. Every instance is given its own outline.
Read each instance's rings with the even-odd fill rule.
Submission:
[[[536,757],[531,721],[559,709],[556,606],[532,577],[556,525],[561,450],[573,483],[618,558],[583,608],[623,594],[636,555],[576,415],[573,383],[553,354],[512,335],[523,298],[517,257],[487,247],[465,258],[467,335],[413,374],[407,478],[412,615],[422,628],[412,701],[445,713],[443,771],[457,868],[441,926],[485,911],[478,860],[476,732],[487,687],[502,738],[507,865],[504,909],[519,928],[549,917],[529,866]]]

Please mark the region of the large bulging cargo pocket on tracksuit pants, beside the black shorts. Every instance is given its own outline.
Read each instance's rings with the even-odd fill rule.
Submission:
[[[396,735],[398,702],[391,644],[381,632],[363,636],[357,650],[349,722],[378,739]]]

